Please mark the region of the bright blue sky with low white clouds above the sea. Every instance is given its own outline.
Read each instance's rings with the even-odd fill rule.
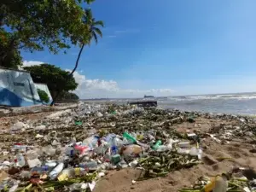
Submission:
[[[80,98],[256,91],[255,0],[96,0],[103,38],[85,47]],[[67,55],[22,52],[24,65],[74,67]]]

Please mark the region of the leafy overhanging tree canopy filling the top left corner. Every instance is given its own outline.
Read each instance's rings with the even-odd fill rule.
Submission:
[[[89,44],[84,3],[94,0],[1,0],[0,27],[11,29],[10,49],[56,54],[71,44]]]

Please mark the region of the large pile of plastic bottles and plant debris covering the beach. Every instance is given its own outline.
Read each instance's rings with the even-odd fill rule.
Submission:
[[[201,163],[197,135],[164,131],[165,124],[148,120],[165,115],[173,119],[156,109],[81,104],[18,121],[4,132],[10,137],[1,153],[9,159],[0,161],[0,174],[8,177],[0,180],[0,190],[92,191],[109,170],[137,168],[139,179],[147,179]]]

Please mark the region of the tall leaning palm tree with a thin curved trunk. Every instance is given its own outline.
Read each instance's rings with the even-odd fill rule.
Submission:
[[[86,39],[86,41],[81,41],[80,45],[80,50],[79,50],[79,55],[75,64],[75,67],[73,68],[72,72],[69,73],[68,78],[71,78],[73,76],[73,73],[76,71],[77,67],[79,66],[79,60],[80,60],[80,56],[83,52],[84,46],[87,44],[90,46],[91,42],[94,40],[95,43],[98,43],[98,37],[102,38],[102,31],[99,28],[99,26],[104,26],[104,23],[102,20],[95,20],[95,18],[92,16],[91,13],[91,9],[85,9],[84,10],[84,18],[83,18],[84,24],[88,30],[88,38]],[[60,91],[59,91],[60,93]],[[59,94],[57,94],[55,96],[55,98],[53,99],[53,101],[50,103],[50,106],[53,106],[53,104],[55,103],[56,98],[59,96]]]

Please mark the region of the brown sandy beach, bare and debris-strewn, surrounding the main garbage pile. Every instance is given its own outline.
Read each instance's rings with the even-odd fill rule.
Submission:
[[[10,126],[17,120],[23,122],[34,122],[37,124],[43,123],[45,118],[55,112],[46,113],[32,113],[12,117],[0,118],[1,137],[0,148],[1,151],[10,151],[14,143],[26,143],[28,145],[35,144],[35,133],[31,130],[21,131],[19,134],[9,134]],[[185,113],[175,111],[183,116]],[[186,114],[186,116],[189,113]],[[181,169],[179,171],[170,172],[166,177],[155,177],[144,181],[137,181],[132,183],[132,180],[137,180],[140,175],[140,170],[133,168],[125,168],[119,171],[108,171],[105,177],[96,183],[96,192],[162,192],[162,191],[177,191],[183,187],[191,187],[196,179],[201,176],[214,176],[222,172],[228,172],[234,167],[252,167],[256,168],[256,154],[253,152],[255,148],[255,140],[252,131],[243,132],[244,127],[253,127],[255,122],[253,119],[241,119],[231,115],[212,116],[212,114],[200,113],[195,117],[195,122],[188,122],[185,120],[173,120],[166,118],[168,113],[156,115],[156,119],[148,125],[152,127],[161,127],[165,131],[176,130],[182,134],[195,132],[201,137],[201,148],[203,150],[202,163],[193,166],[189,169]],[[185,116],[185,115],[184,115]],[[73,117],[72,117],[73,118]],[[110,125],[123,125],[125,127],[137,127],[139,124],[144,124],[139,115],[131,115],[129,121],[127,119],[112,117],[111,119],[90,118],[86,119],[87,123],[92,124],[96,129],[109,130]],[[246,123],[245,123],[246,121]],[[56,123],[55,123],[56,124]],[[241,129],[241,133],[232,132],[230,137],[224,138],[225,130]],[[86,127],[84,127],[86,129]],[[56,127],[55,131],[63,137],[68,137],[67,132],[77,139],[85,137],[84,131],[86,130],[74,129],[73,126],[67,128]],[[111,128],[113,129],[113,127]],[[247,129],[247,128],[244,128]],[[3,133],[5,131],[5,133]],[[47,134],[49,131],[40,131],[42,135]],[[84,134],[84,135],[83,135]],[[216,134],[221,143],[218,143],[209,134]],[[2,154],[2,160],[12,160],[13,154]]]

